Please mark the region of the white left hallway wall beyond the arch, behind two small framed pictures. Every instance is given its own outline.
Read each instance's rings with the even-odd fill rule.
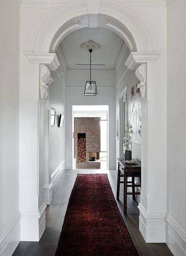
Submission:
[[[66,96],[64,84],[58,77],[57,72],[52,72],[52,78],[54,81],[49,86],[49,109],[51,107],[56,109],[56,119],[55,126],[49,126],[49,174],[53,176],[54,172],[61,164],[64,164],[65,161],[66,117],[62,128],[58,127],[58,123],[60,114],[65,116]],[[64,166],[63,170],[65,169]],[[55,176],[52,177],[52,181]]]

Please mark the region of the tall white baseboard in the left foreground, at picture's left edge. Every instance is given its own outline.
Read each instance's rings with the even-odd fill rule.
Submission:
[[[0,232],[0,256],[13,254],[20,242],[20,213],[18,212]]]

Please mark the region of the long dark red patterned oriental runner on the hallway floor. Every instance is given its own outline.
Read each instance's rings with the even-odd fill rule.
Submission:
[[[56,256],[135,256],[107,174],[78,174]]]

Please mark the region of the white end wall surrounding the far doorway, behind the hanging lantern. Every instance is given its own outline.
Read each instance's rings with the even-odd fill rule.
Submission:
[[[84,96],[84,87],[66,87],[66,169],[72,169],[72,106],[109,106],[109,169],[115,170],[115,88],[98,87],[97,96]]]

